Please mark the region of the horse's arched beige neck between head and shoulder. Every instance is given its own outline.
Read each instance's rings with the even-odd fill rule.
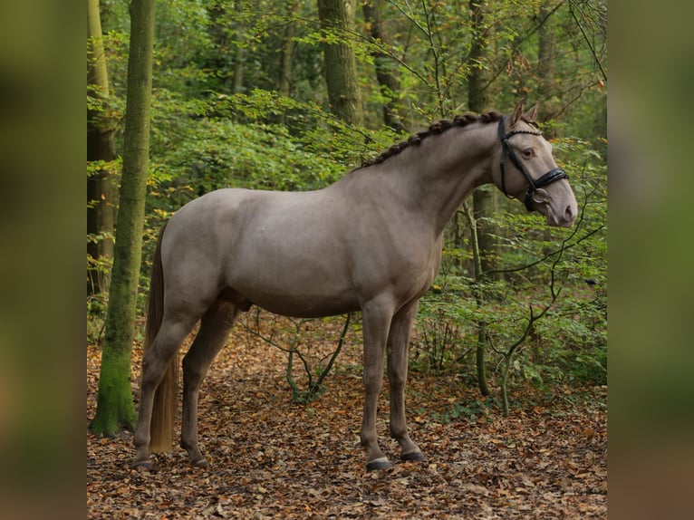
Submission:
[[[491,182],[491,154],[496,125],[475,123],[430,136],[410,151],[394,157],[391,175],[408,178],[398,184],[407,189],[411,204],[430,219],[438,236],[462,202],[478,186]],[[384,163],[384,166],[388,161]],[[404,179],[403,179],[404,180]]]

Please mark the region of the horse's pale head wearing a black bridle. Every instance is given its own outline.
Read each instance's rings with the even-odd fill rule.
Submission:
[[[499,121],[494,183],[506,197],[523,200],[528,211],[542,213],[550,226],[571,227],[578,211],[574,191],[554,161],[552,145],[538,130],[536,115],[537,105],[523,113],[520,101],[511,115]]]

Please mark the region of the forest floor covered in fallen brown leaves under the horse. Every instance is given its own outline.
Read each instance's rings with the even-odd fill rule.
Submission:
[[[175,448],[140,472],[130,468],[130,432],[97,438],[87,430],[88,518],[607,517],[606,387],[555,387],[549,395],[513,383],[508,418],[483,407],[451,420],[452,410],[480,402],[477,388],[410,371],[410,436],[428,461],[367,472],[359,343],[345,344],[319,400],[296,404],[286,353],[239,329],[200,391],[200,444],[210,467],[190,467]],[[134,396],[140,359],[136,346]],[[100,361],[101,350],[88,346],[87,424]],[[387,387],[385,380],[379,435],[396,462]]]

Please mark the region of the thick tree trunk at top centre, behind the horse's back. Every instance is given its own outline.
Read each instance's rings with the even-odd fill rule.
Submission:
[[[330,111],[354,125],[363,124],[354,49],[344,40],[354,30],[354,0],[318,0],[323,29],[323,69]]]

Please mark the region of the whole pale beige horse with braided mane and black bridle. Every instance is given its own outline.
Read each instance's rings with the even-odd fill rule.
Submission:
[[[323,189],[223,188],[178,209],[154,255],[133,467],[150,469],[150,452],[172,448],[181,364],[180,446],[192,465],[208,465],[198,448],[199,386],[236,317],[252,305],[305,318],[361,310],[367,470],[391,467],[376,433],[386,356],[390,436],[401,460],[425,460],[405,418],[408,343],[419,298],[439,270],[444,227],[487,183],[549,226],[571,227],[576,218],[574,192],[536,112],[536,104],[524,112],[520,101],[506,116],[439,120]],[[198,321],[179,363],[180,344]]]

